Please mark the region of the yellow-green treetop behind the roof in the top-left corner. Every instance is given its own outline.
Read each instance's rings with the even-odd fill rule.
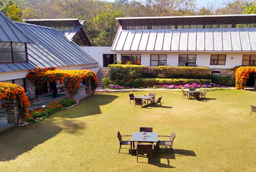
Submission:
[[[12,21],[22,22],[22,10],[19,9],[19,5],[13,3],[12,0],[7,0],[7,3],[5,3],[0,10]]]

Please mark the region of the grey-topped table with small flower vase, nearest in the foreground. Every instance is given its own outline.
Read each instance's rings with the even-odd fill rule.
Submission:
[[[158,132],[147,132],[146,137],[143,135],[144,132],[133,132],[131,141],[133,142],[158,142]]]

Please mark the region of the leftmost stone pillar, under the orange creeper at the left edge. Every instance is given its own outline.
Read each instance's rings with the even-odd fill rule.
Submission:
[[[22,123],[20,119],[19,101],[7,100],[6,111],[8,123],[14,123],[15,125],[19,125],[20,123]]]

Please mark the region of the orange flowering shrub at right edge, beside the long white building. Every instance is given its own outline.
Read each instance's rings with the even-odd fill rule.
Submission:
[[[256,66],[243,66],[236,69],[235,72],[235,88],[243,89],[246,87],[250,73],[256,72]]]

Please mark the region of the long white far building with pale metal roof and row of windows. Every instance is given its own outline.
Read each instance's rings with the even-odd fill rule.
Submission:
[[[214,75],[256,65],[256,14],[116,18],[117,61],[209,67]]]

